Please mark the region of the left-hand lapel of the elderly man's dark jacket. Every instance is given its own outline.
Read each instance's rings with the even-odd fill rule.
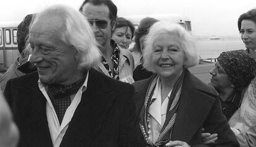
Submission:
[[[53,146],[46,117],[46,99],[38,85],[22,87],[17,91],[20,98],[25,98],[26,118],[23,119],[22,125],[25,130],[23,137],[28,145]]]

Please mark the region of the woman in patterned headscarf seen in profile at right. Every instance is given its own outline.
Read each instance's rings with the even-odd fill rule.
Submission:
[[[210,85],[220,94],[222,112],[229,120],[241,106],[245,88],[254,78],[256,61],[244,50],[222,52],[210,70]]]

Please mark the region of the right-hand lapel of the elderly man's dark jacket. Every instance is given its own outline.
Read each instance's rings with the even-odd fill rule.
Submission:
[[[87,90],[82,94],[82,99],[70,121],[61,146],[71,145],[70,138],[81,138],[79,137],[81,133],[84,136],[82,139],[88,140],[89,143],[90,138],[96,135],[96,132],[104,122],[109,108],[113,104],[114,99],[116,99],[116,93],[109,90],[108,85],[103,79],[105,75],[99,76],[100,74],[95,69],[89,71]]]

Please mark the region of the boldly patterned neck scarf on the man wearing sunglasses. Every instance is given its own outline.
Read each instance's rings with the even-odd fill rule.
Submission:
[[[119,64],[120,51],[119,51],[117,44],[113,40],[111,40],[110,44],[111,44],[111,46],[113,46],[113,53],[111,56],[111,60],[114,62],[114,65],[113,65],[114,73],[112,73],[111,69],[109,68],[108,62],[106,62],[106,60],[103,56],[101,58],[101,62],[104,65],[104,67],[106,68],[106,70],[108,70],[109,76],[111,78],[119,80],[118,64]]]

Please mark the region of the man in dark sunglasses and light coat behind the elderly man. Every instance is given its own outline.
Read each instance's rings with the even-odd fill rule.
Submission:
[[[101,49],[101,63],[95,69],[111,78],[133,83],[134,58],[126,49],[111,40],[116,25],[117,7],[111,0],[85,0],[79,9],[92,26],[98,48]]]

